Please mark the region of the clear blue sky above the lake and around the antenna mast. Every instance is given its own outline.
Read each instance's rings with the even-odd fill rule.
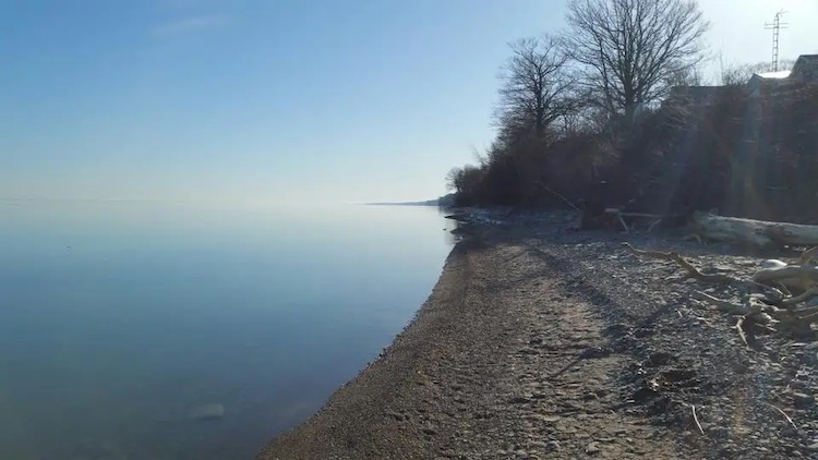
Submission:
[[[818,52],[815,0],[703,0],[713,58]],[[492,140],[507,44],[561,0],[0,0],[0,197],[436,197]]]

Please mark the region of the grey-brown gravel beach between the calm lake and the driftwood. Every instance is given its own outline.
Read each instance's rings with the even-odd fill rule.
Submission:
[[[744,346],[690,298],[735,293],[622,242],[737,275],[769,254],[565,222],[465,226],[416,320],[257,459],[818,458],[813,342]]]

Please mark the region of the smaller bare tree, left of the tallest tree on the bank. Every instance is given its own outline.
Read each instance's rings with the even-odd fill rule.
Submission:
[[[500,104],[494,113],[500,136],[542,137],[574,107],[573,82],[565,72],[568,57],[560,38],[552,36],[524,38],[510,48],[512,57],[500,75]]]

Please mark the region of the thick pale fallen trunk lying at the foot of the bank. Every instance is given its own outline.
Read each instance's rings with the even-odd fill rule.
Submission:
[[[768,222],[707,213],[695,213],[691,226],[700,237],[714,241],[747,243],[757,247],[818,245],[818,226]]]

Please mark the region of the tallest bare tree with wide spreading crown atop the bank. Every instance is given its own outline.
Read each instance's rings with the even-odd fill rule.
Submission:
[[[593,102],[631,120],[703,59],[696,0],[570,0],[565,41]]]

